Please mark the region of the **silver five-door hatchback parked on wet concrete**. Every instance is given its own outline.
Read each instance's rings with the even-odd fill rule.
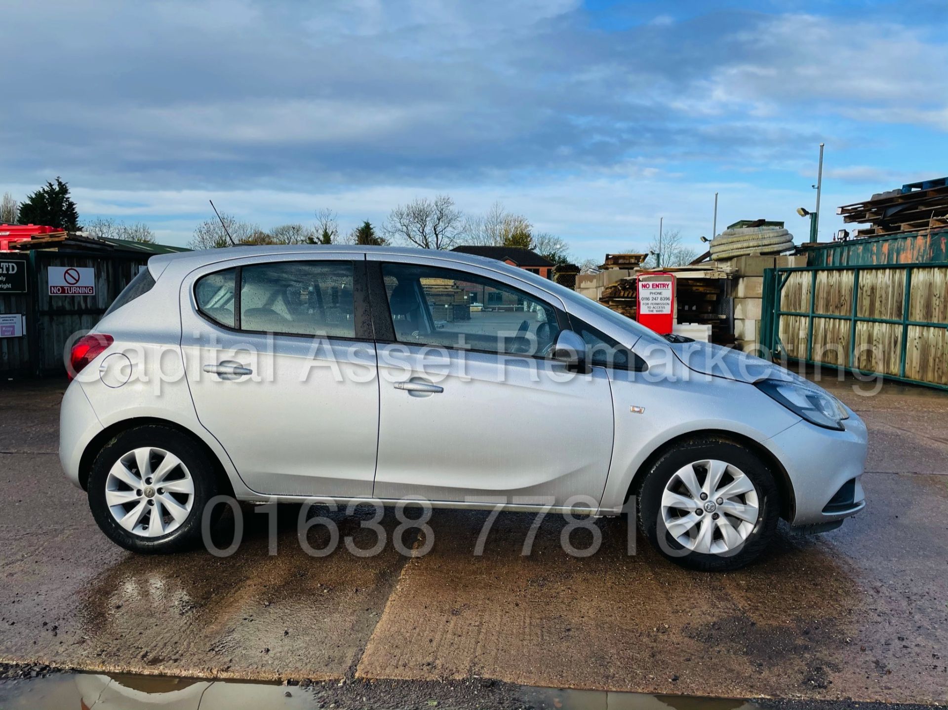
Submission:
[[[779,518],[822,532],[865,506],[866,427],[826,391],[456,252],[155,256],[69,367],[66,476],[136,552],[195,545],[218,495],[421,499],[628,513],[726,570]]]

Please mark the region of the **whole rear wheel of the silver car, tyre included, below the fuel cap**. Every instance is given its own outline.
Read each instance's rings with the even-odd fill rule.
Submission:
[[[102,532],[126,550],[171,553],[201,539],[204,507],[217,493],[210,457],[173,428],[127,429],[92,465],[89,507]]]

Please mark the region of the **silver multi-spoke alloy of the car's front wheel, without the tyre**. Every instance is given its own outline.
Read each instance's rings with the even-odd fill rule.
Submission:
[[[696,461],[665,483],[661,515],[668,534],[684,548],[705,555],[733,553],[757,525],[757,488],[733,464]]]

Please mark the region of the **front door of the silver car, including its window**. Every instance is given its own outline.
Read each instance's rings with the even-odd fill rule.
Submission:
[[[384,282],[392,326],[390,341],[377,343],[374,495],[558,506],[582,494],[598,503],[610,384],[601,368],[570,373],[548,357],[565,326],[561,303],[490,269],[369,258],[380,262],[370,273]]]

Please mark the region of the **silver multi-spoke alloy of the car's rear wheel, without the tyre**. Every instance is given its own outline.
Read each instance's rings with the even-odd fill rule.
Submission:
[[[139,446],[118,458],[105,480],[105,504],[113,519],[137,537],[173,532],[191,514],[194,481],[172,452]]]

